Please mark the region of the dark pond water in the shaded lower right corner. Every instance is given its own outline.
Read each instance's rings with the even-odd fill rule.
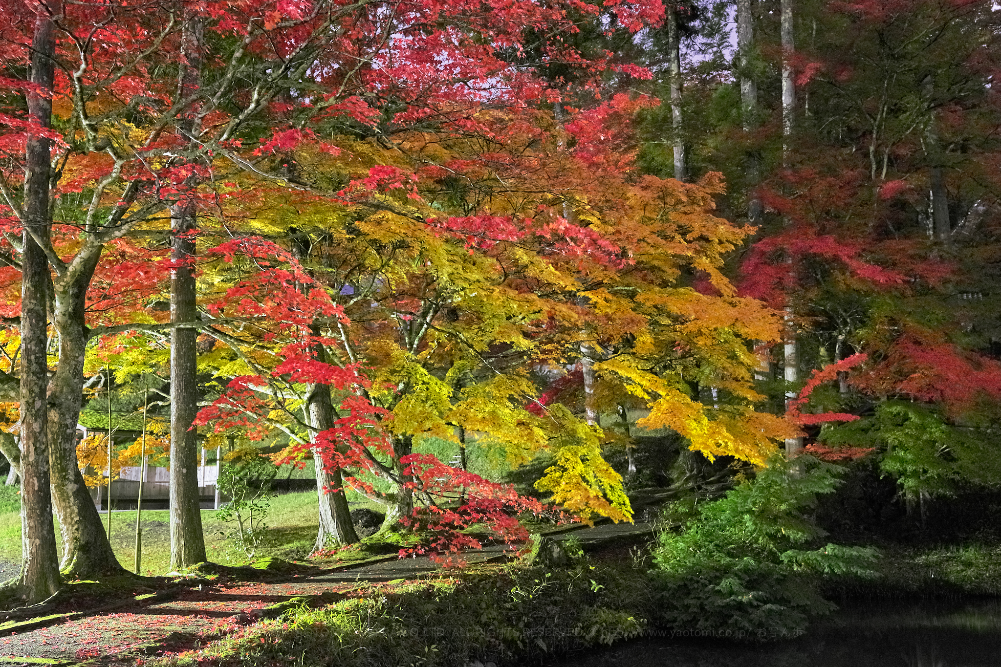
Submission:
[[[646,637],[559,667],[999,667],[1001,600],[844,606],[808,634],[765,645]],[[551,667],[558,667],[557,664]]]

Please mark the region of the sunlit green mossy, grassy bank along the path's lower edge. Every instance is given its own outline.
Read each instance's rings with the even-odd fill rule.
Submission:
[[[482,567],[452,579],[391,582],[358,597],[287,605],[280,616],[153,661],[302,667],[513,662],[640,634],[656,604],[641,569]]]

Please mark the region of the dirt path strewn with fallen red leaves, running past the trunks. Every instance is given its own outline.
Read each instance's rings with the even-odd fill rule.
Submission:
[[[640,525],[607,525],[573,534],[586,547],[649,533]],[[469,564],[504,561],[504,546],[463,554]],[[265,607],[303,595],[363,594],[361,584],[436,576],[441,568],[426,556],[344,566],[274,583],[202,584],[168,601],[138,602],[118,610],[0,637],[0,665],[72,665],[97,659],[127,664],[142,655],[188,650],[260,618]]]

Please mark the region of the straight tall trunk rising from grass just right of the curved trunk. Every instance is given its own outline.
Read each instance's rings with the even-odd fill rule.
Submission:
[[[195,92],[201,64],[201,25],[186,17],[181,32],[181,97]],[[192,113],[194,113],[192,111]],[[195,136],[193,119],[181,119],[181,131]],[[174,268],[170,279],[170,321],[194,322],[195,307],[194,239],[188,235],[196,227],[193,202],[181,201],[170,209],[174,240],[170,258]],[[191,429],[198,410],[198,350],[194,329],[170,332],[170,567],[188,567],[205,560],[205,536],[201,528],[198,498],[198,448]]]

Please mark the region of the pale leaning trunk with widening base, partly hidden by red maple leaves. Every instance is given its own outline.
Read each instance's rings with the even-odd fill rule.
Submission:
[[[333,427],[336,415],[330,400],[330,385],[314,384],[309,387],[306,399],[306,414],[309,422],[309,437],[315,442],[316,435]],[[313,448],[316,463],[316,493],[319,495],[319,530],[313,552],[330,546],[343,546],[358,541],[351,521],[351,511],[344,494],[344,482],[340,468],[327,469],[319,449]]]

